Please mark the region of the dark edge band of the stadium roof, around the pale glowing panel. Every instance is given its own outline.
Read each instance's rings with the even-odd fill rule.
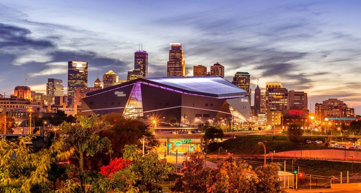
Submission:
[[[171,78],[172,76],[167,76],[167,77]],[[235,94],[235,93],[225,93],[225,94],[203,93],[203,92],[186,90],[186,89],[182,89],[182,88],[179,88],[179,87],[170,86],[170,85],[167,85],[167,84],[162,84],[162,83],[159,83],[159,82],[152,81],[152,78],[167,78],[167,77],[149,77],[149,78],[147,78],[147,79],[145,79],[145,78],[137,78],[137,79],[135,79],[135,80],[123,82],[123,83],[118,84],[118,85],[109,86],[109,87],[106,87],[106,88],[104,88],[104,89],[96,90],[96,91],[87,93],[86,95],[87,95],[87,96],[91,96],[91,95],[98,94],[98,93],[102,93],[102,92],[105,92],[105,91],[108,91],[108,90],[116,89],[116,88],[118,88],[118,87],[122,87],[122,86],[126,86],[126,85],[131,85],[131,84],[134,84],[134,83],[139,82],[139,81],[147,82],[147,83],[154,84],[154,85],[158,85],[158,86],[167,87],[167,88],[169,88],[169,89],[174,89],[174,90],[182,91],[182,92],[185,92],[185,93],[198,94],[198,95],[211,96],[211,97],[226,97],[226,96],[247,95],[247,91],[239,92],[239,94]],[[178,77],[178,76],[177,76],[177,77]],[[184,76],[182,76],[182,77],[184,77]],[[196,76],[196,77],[198,77],[198,76]],[[219,77],[220,77],[220,76],[219,76]],[[223,77],[221,77],[221,78],[223,78]],[[223,80],[225,80],[225,81],[229,82],[230,84],[234,85],[232,82],[226,80],[225,78],[223,78]],[[238,88],[239,88],[239,87],[238,87]],[[241,89],[241,88],[239,88],[239,89]],[[241,90],[243,90],[243,89],[241,89]]]

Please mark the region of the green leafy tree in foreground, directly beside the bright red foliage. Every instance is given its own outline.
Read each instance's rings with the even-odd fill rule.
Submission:
[[[159,192],[161,188],[157,186],[157,183],[168,178],[168,174],[174,170],[173,165],[160,163],[155,152],[149,152],[143,157],[136,145],[126,145],[124,150],[123,159],[131,164],[125,166],[118,159],[120,166],[115,167],[119,170],[100,176],[99,180],[92,184],[91,191]],[[110,165],[105,167],[110,167]]]

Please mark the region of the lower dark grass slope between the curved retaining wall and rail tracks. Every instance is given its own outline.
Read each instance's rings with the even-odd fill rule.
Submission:
[[[208,161],[217,162],[217,158],[207,158]],[[252,170],[258,166],[264,164],[263,158],[244,158],[245,162],[252,166]],[[266,160],[267,163],[271,163],[271,159]],[[284,171],[284,160],[273,159],[273,162],[279,163],[280,170]],[[340,172],[343,172],[342,176],[347,176],[347,171],[351,174],[352,162],[336,162],[336,161],[324,161],[324,160],[286,160],[286,171],[295,171],[300,166],[300,172],[304,174],[318,175],[318,176],[339,176]],[[353,163],[353,172],[361,174],[361,164]]]

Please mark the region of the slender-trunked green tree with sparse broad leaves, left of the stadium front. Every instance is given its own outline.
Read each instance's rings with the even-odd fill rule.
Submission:
[[[84,175],[84,159],[94,156],[97,152],[111,153],[110,140],[101,138],[98,134],[102,130],[109,129],[108,122],[93,115],[91,117],[78,117],[77,123],[63,122],[60,125],[60,135],[69,149],[74,149],[74,158],[79,162],[79,179],[81,187],[85,191],[86,176]]]

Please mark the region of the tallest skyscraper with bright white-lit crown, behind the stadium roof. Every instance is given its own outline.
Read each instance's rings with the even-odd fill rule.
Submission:
[[[185,76],[184,53],[182,44],[170,43],[167,76]]]

